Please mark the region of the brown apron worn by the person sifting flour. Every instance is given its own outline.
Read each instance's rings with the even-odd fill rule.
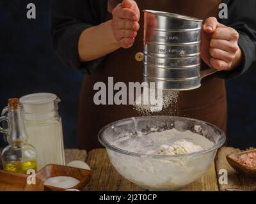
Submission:
[[[116,0],[111,1],[116,2]],[[141,82],[143,63],[137,62],[134,55],[143,51],[143,13],[142,10],[159,10],[180,13],[198,18],[217,17],[220,0],[140,0],[141,29],[134,45],[129,49],[120,48],[106,56],[91,76],[85,76],[79,99],[79,120],[77,139],[79,149],[91,150],[100,147],[97,133],[101,128],[116,120],[139,116],[131,105],[100,105],[93,103],[93,85],[104,82],[108,85],[108,77],[116,82]],[[115,5],[112,5],[113,7]],[[111,19],[109,14],[106,20]],[[202,69],[207,66],[202,63]],[[128,86],[127,86],[128,87]],[[172,107],[170,107],[172,108]],[[225,81],[220,78],[207,77],[202,87],[193,91],[181,92],[178,108],[179,115],[204,120],[226,131],[227,98]],[[159,115],[167,115],[161,112]]]

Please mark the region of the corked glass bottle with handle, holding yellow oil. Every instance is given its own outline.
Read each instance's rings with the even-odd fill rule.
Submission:
[[[9,99],[3,114],[6,112],[8,112],[7,117],[0,118],[0,122],[3,120],[8,122],[7,129],[0,127],[0,132],[7,135],[9,143],[1,154],[3,169],[25,174],[28,170],[36,171],[36,150],[28,143],[28,133],[24,126],[19,99]]]

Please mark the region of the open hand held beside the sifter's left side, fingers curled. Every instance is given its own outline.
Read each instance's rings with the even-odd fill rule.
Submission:
[[[112,11],[112,29],[118,45],[122,48],[130,48],[140,29],[140,10],[133,0],[124,0]]]

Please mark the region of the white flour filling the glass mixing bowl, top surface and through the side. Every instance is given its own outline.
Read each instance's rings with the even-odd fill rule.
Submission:
[[[187,153],[209,149],[213,143],[191,131],[171,129],[161,133],[127,135],[112,143],[119,149],[150,155],[180,155],[154,158],[129,156],[108,150],[111,163],[126,179],[145,189],[177,189],[200,178],[211,166],[216,152],[184,157]]]

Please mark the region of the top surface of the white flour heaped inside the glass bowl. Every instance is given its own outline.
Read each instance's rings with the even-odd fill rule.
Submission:
[[[191,131],[182,132],[177,131],[177,129],[170,129],[163,132],[149,133],[148,135],[140,132],[137,136],[124,135],[111,145],[140,154],[159,154],[161,149],[166,148],[183,149],[180,154],[186,154],[208,149],[212,146],[212,142]],[[170,154],[174,153],[171,152]]]

